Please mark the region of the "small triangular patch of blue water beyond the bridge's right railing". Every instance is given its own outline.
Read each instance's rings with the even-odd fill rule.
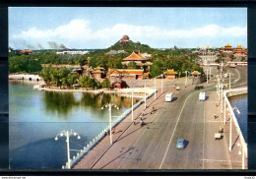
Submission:
[[[243,133],[243,137],[245,142],[247,143],[247,135],[248,135],[248,95],[237,95],[229,97],[230,103],[232,107],[237,107],[240,111],[240,114],[237,113],[236,110],[234,110],[234,114],[236,116],[236,119],[239,123],[240,129]]]

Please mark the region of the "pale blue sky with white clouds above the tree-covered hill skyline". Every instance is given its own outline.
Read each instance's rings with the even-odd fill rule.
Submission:
[[[107,48],[124,34],[154,48],[247,47],[247,9],[9,8],[15,49]]]

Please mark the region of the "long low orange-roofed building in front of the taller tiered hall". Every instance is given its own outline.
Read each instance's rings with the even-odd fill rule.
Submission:
[[[107,72],[107,78],[120,78],[120,79],[147,79],[149,73],[144,73],[143,70],[137,69],[109,69]]]

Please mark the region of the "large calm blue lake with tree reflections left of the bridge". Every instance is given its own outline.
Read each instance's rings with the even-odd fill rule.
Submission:
[[[10,82],[9,92],[13,169],[61,168],[67,150],[65,138],[54,140],[60,131],[77,132],[81,139],[71,137],[70,149],[83,149],[108,126],[108,111],[100,109],[103,104],[117,104],[120,109],[113,109],[112,116],[119,116],[132,103],[131,98],[115,94],[41,91],[23,82]],[[75,154],[71,151],[71,157]]]

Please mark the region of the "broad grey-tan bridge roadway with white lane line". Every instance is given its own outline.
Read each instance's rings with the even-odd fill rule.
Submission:
[[[123,125],[121,134],[113,135],[115,143],[109,147],[109,137],[103,139],[74,168],[93,169],[228,169],[230,161],[224,140],[215,141],[222,125],[214,119],[215,88],[206,101],[199,101],[194,86],[173,91],[174,101],[165,102],[165,92],[146,110],[146,126]],[[159,92],[160,93],[160,92]],[[151,98],[154,98],[151,97]],[[142,107],[144,105],[141,105]],[[151,114],[152,107],[157,111]],[[117,126],[118,128],[118,126]],[[120,127],[122,128],[122,127]],[[177,139],[188,141],[186,149],[176,149]],[[97,149],[102,149],[100,152]]]

